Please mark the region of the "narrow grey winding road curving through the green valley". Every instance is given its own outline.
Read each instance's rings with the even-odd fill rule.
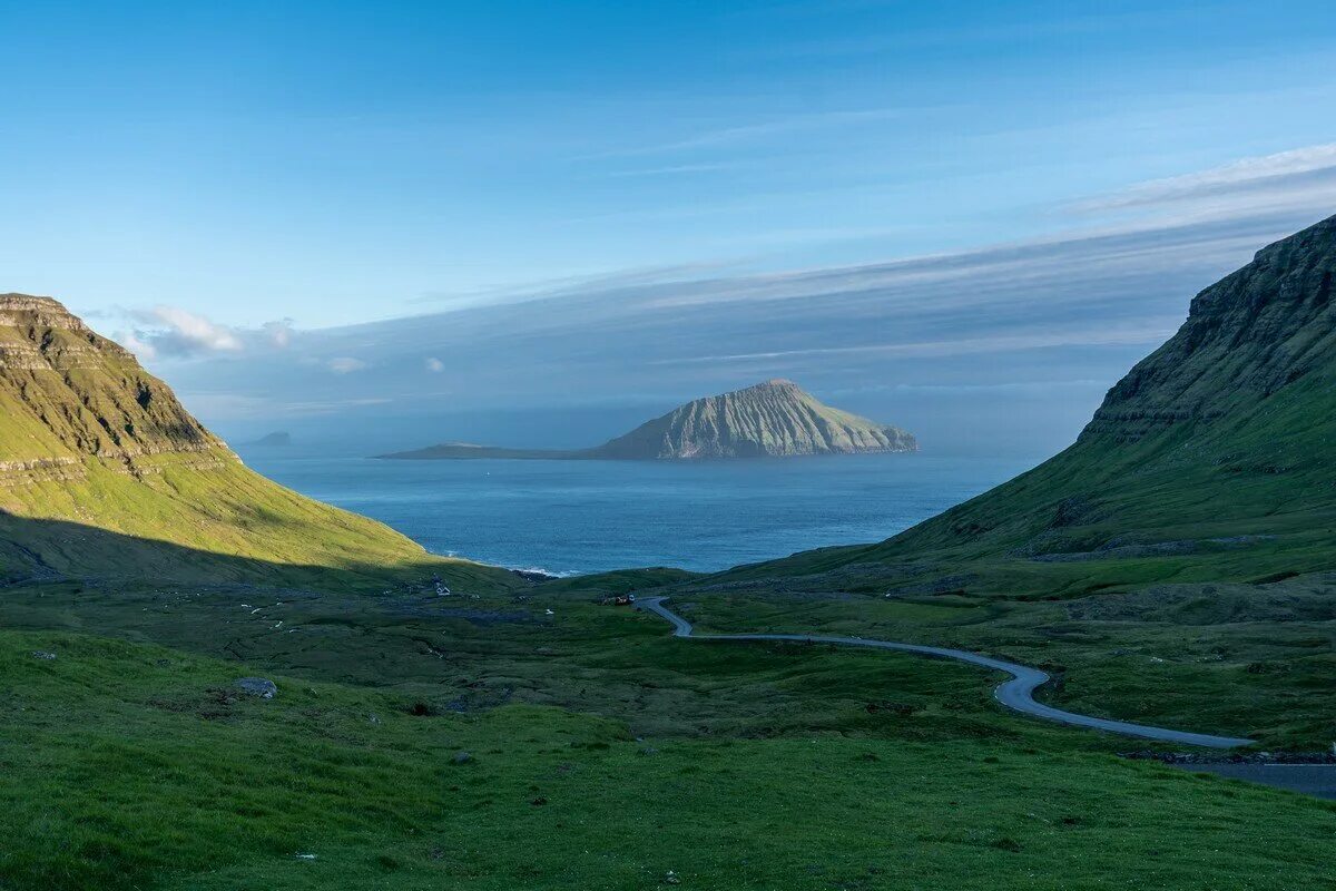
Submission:
[[[1144,739],[1160,740],[1161,743],[1181,743],[1184,745],[1202,745],[1206,748],[1236,748],[1238,745],[1252,745],[1253,740],[1236,736],[1212,736],[1209,733],[1188,733],[1186,731],[1170,731],[1164,727],[1146,727],[1144,724],[1129,724],[1128,721],[1112,721],[1105,717],[1090,717],[1063,712],[1043,703],[1034,701],[1034,691],[1049,681],[1049,676],[1038,668],[1018,665],[1001,659],[991,659],[971,653],[967,649],[949,649],[946,647],[922,647],[919,644],[898,644],[888,640],[867,640],[863,637],[831,637],[822,635],[696,635],[691,629],[691,622],[668,609],[664,605],[667,597],[647,597],[636,604],[640,609],[667,618],[673,625],[675,637],[691,637],[693,640],[794,640],[810,644],[840,644],[846,647],[872,647],[875,649],[895,649],[906,653],[919,653],[922,656],[938,656],[942,659],[955,659],[971,665],[981,665],[994,671],[1006,672],[1011,680],[998,685],[993,695],[999,703],[1010,709],[1042,717],[1047,721],[1085,727],[1125,736],[1141,736]]]

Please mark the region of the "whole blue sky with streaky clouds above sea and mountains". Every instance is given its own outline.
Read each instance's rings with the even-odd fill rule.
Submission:
[[[934,393],[942,438],[1050,387],[1058,442],[1197,287],[1336,208],[1327,3],[0,0],[0,289],[224,426],[788,371]],[[1043,286],[947,299],[1003,248]],[[973,278],[860,285],[943,255]]]

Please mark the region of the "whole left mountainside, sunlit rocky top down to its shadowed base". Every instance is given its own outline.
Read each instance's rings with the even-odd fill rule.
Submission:
[[[287,578],[428,561],[391,529],[244,468],[56,301],[0,295],[0,578]]]

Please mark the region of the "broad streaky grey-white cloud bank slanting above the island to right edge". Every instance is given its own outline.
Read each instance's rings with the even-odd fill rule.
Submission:
[[[1132,187],[1145,207],[1128,212],[1124,199],[1038,240],[762,275],[739,274],[739,262],[497,289],[445,301],[448,311],[301,331],[285,351],[174,369],[172,383],[226,381],[271,401],[232,411],[278,421],[667,407],[790,377],[818,393],[882,386],[848,407],[896,417],[896,405],[918,406],[906,426],[926,442],[934,429],[978,430],[985,415],[1014,421],[1013,433],[1035,427],[1037,413],[1075,423],[1173,333],[1194,293],[1331,215],[1333,186],[1336,148],[1311,147]],[[449,369],[432,377],[437,362]],[[456,374],[466,387],[430,391]]]

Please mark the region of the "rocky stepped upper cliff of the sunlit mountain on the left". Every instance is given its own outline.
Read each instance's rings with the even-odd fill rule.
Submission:
[[[135,358],[45,297],[0,295],[0,476],[77,474],[83,458],[127,473],[147,457],[235,461]]]

